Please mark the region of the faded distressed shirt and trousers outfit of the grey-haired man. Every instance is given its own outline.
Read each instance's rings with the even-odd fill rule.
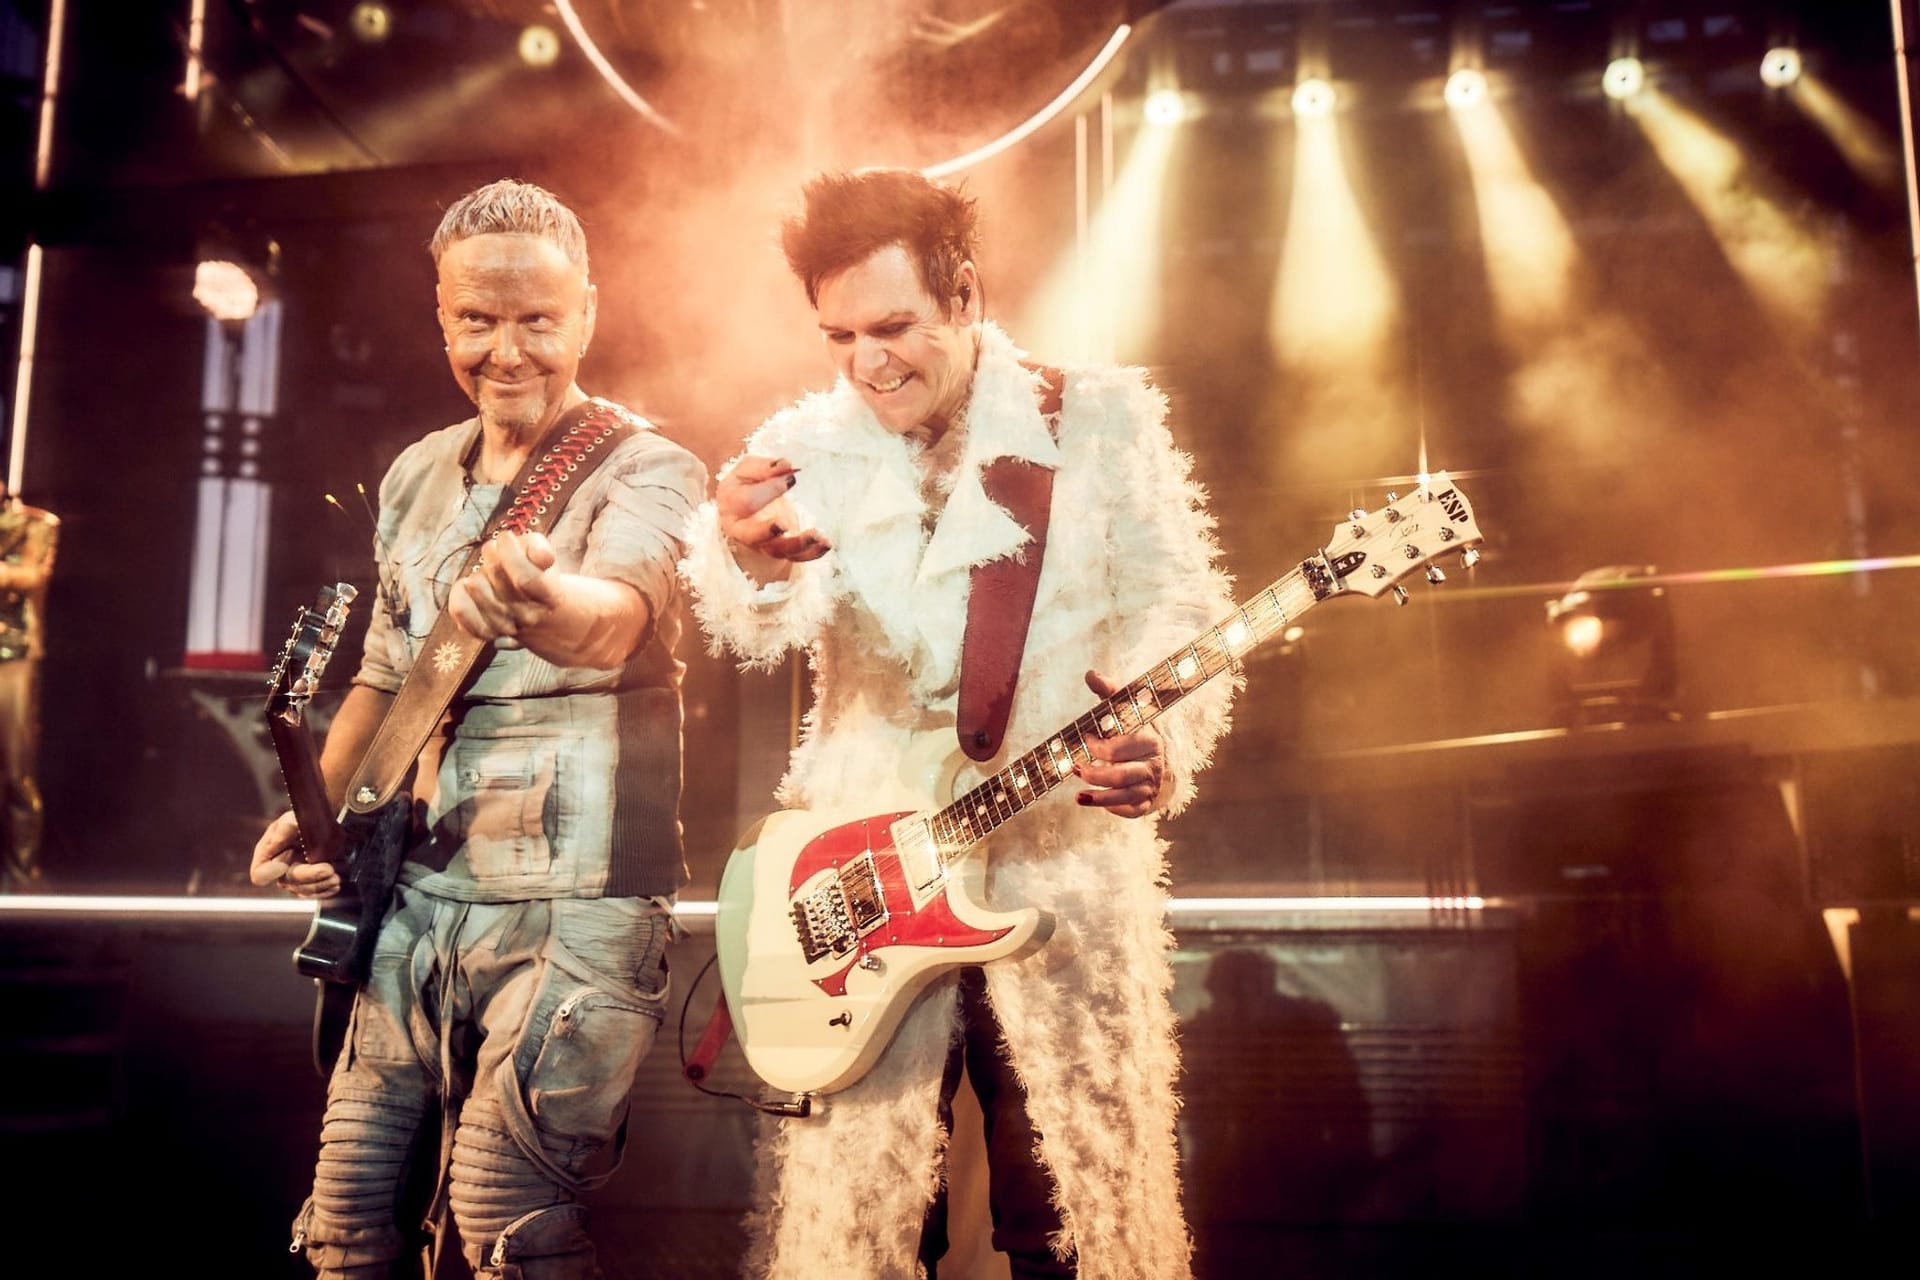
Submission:
[[[666,1002],[680,848],[680,530],[707,474],[637,418],[551,532],[557,566],[634,585],[653,628],[622,668],[497,645],[420,752],[415,844],[326,1092],[296,1247],[323,1278],[388,1276],[447,1211],[480,1278],[597,1276],[580,1194],[624,1153]],[[380,486],[380,593],[357,683],[397,691],[499,486],[468,420]]]

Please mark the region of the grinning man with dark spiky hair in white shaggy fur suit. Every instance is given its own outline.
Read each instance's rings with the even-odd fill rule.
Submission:
[[[783,804],[872,812],[922,735],[954,743],[975,566],[1044,547],[1004,739],[968,752],[962,789],[1231,610],[1165,399],[1137,368],[1052,378],[1023,359],[985,315],[972,198],[902,169],[824,175],[785,251],[839,378],[747,439],[682,562],[716,647],[810,656]],[[1006,459],[1050,472],[1044,543],[989,497]],[[1089,741],[1077,804],[1048,796],[987,841],[989,906],[1048,912],[1050,940],[948,969],[864,1077],[768,1121],[749,1274],[933,1276],[962,1063],[1014,1276],[1188,1274],[1158,827],[1192,796],[1233,683]]]

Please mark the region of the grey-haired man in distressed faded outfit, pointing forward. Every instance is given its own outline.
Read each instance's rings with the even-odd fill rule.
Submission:
[[[580,219],[551,192],[482,186],[430,249],[476,413],[380,486],[378,603],[321,752],[332,802],[363,791],[401,685],[465,670],[449,631],[430,641],[442,614],[484,647],[413,762],[405,860],[332,1059],[294,1247],[324,1278],[371,1280],[422,1244],[432,1259],[451,1221],[480,1280],[588,1280],[580,1196],[620,1163],[687,875],[674,564],[707,474],[580,390],[597,299]],[[545,532],[484,533],[570,462],[586,478]],[[340,869],[298,850],[294,818],[275,819],[253,881],[338,894]],[[409,1203],[417,1186],[426,1203]],[[422,1219],[430,1242],[413,1238]]]

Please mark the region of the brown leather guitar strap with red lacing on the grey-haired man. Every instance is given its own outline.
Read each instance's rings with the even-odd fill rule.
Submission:
[[[520,474],[501,489],[499,505],[488,516],[474,549],[467,553],[459,576],[474,570],[480,551],[497,533],[534,533],[553,528],[580,482],[636,430],[618,407],[601,399],[589,399],[561,415]],[[348,781],[348,812],[371,814],[394,798],[434,725],[453,702],[453,695],[480,654],[490,651],[490,641],[468,635],[453,622],[453,614],[440,612],[426,643],[420,645],[420,660],[407,672],[359,770]]]

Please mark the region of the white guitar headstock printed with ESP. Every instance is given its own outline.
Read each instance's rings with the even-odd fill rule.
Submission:
[[[1325,568],[1332,570],[1327,595],[1394,593],[1405,604],[1400,580],[1425,566],[1427,581],[1446,581],[1434,560],[1461,555],[1473,568],[1480,558],[1480,526],[1473,505],[1446,472],[1434,472],[1413,493],[1386,495],[1379,510],[1356,510],[1336,524],[1327,541]]]

